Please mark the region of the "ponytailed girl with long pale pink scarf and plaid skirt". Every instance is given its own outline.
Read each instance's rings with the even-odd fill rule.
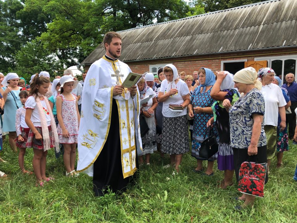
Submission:
[[[35,76],[31,82],[30,96],[25,103],[25,122],[30,128],[26,143],[33,148],[33,169],[36,186],[43,186],[44,181],[54,180],[45,176],[46,155],[50,148],[59,150],[59,138],[53,113],[45,97],[49,88],[49,79]]]

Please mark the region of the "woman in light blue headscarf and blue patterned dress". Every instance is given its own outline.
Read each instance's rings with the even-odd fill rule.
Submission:
[[[196,87],[197,82],[199,85]],[[193,169],[196,173],[203,173],[208,176],[213,175],[214,160],[217,160],[217,153],[205,159],[199,156],[201,142],[203,142],[204,133],[207,130],[207,122],[213,117],[213,110],[211,106],[215,102],[210,97],[210,92],[216,82],[214,73],[208,68],[200,68],[198,71],[198,81],[193,86],[193,94],[191,97],[191,103],[188,106],[189,116],[194,117],[193,126],[193,139],[192,139],[192,156],[197,159],[197,167]],[[217,129],[213,128],[214,136],[217,137]],[[203,172],[202,161],[208,160],[207,169]]]

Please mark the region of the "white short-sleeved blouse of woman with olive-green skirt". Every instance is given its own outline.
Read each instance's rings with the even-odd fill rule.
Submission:
[[[278,107],[287,104],[282,90],[278,85],[271,83],[262,86],[261,92],[265,100],[264,125],[278,126]]]

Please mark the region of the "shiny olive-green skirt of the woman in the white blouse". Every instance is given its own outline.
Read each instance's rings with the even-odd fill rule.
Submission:
[[[276,155],[277,127],[273,125],[264,125],[264,131],[267,140],[267,160]]]

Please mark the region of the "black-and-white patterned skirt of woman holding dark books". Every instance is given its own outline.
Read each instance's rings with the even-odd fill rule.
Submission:
[[[189,151],[187,115],[163,117],[161,152],[183,154]]]

